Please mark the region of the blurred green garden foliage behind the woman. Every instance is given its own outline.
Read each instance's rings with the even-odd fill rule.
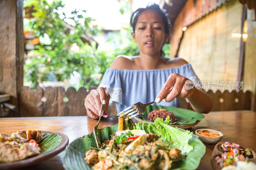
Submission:
[[[64,12],[65,5],[61,0],[51,3],[47,0],[24,0],[24,8],[29,6],[33,6],[36,12],[32,13],[33,18],[24,18],[24,30],[33,31],[41,41],[35,50],[29,51],[31,57],[25,58],[24,62],[24,83],[31,88],[36,88],[40,81],[66,81],[74,71],[80,74],[79,84],[69,86],[76,89],[98,86],[117,55],[139,55],[131,28],[110,33],[108,43],[114,48],[99,50],[98,43],[90,37],[102,31],[98,26],[92,26],[93,18],[85,17],[86,10]],[[127,7],[120,9],[122,13],[129,10]],[[67,27],[73,31],[69,32]],[[81,40],[84,35],[91,39],[90,45]],[[169,47],[163,49],[165,53],[169,51]]]

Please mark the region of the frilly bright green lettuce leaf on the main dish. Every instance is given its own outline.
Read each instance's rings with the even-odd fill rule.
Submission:
[[[192,138],[193,133],[186,130],[181,131],[177,128],[169,126],[170,117],[167,116],[165,121],[160,118],[156,118],[154,122],[150,123],[137,123],[136,129],[145,130],[147,133],[153,133],[161,136],[159,139],[164,141],[164,144],[168,144],[171,148],[177,148],[182,154],[189,153],[193,150],[193,146],[188,144],[188,140]],[[163,135],[164,134],[164,135]],[[173,141],[173,143],[171,143]]]

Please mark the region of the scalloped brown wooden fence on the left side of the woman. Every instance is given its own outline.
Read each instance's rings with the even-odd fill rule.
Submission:
[[[69,87],[67,91],[63,87],[37,86],[30,89],[23,86],[20,96],[20,116],[84,116],[84,98],[95,88],[84,87],[78,91],[74,87]],[[110,106],[108,113],[116,113],[116,107]]]

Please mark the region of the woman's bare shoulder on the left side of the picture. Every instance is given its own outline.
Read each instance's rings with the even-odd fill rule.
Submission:
[[[127,55],[118,55],[109,68],[112,69],[131,69],[135,64],[133,58],[136,56],[129,57]]]

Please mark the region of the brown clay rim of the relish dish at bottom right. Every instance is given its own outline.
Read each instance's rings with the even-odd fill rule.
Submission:
[[[234,142],[231,142],[231,143],[234,143]],[[217,161],[215,160],[215,158],[217,156],[221,157],[221,154],[224,153],[221,148],[220,148],[220,145],[221,144],[224,144],[224,142],[220,142],[218,144],[215,145],[213,151],[212,151],[212,156],[211,156],[211,165],[212,165],[212,168],[215,169],[215,170],[220,170],[220,164],[217,163]],[[240,145],[240,144],[239,144]],[[244,148],[249,148],[247,146],[243,146],[243,145],[240,145]],[[251,151],[252,151],[252,155],[253,155],[253,158],[249,158],[249,161],[252,161],[252,162],[256,162],[256,153],[255,151],[253,151],[251,148],[249,148]]]

